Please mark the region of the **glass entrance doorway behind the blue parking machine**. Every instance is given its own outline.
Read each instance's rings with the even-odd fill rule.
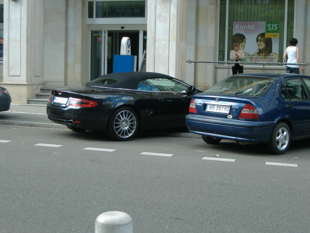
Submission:
[[[94,80],[102,74],[113,73],[114,55],[119,55],[120,43],[123,37],[129,37],[130,39],[131,55],[137,57],[136,71],[138,71],[139,52],[144,49],[139,48],[140,32],[143,33],[143,31],[91,31],[90,80]],[[146,32],[143,34],[146,34]],[[142,38],[144,41],[144,37]],[[142,47],[145,44],[146,49],[146,43],[142,44]]]

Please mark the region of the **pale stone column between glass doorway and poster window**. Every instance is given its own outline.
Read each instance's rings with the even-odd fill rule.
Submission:
[[[184,80],[187,0],[147,1],[146,71]]]

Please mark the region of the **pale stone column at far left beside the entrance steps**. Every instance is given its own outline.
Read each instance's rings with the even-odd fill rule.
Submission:
[[[43,82],[44,0],[4,0],[3,85],[26,104]]]

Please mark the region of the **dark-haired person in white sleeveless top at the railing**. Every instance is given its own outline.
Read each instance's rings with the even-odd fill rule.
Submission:
[[[289,40],[289,45],[283,55],[283,62],[286,63],[286,55],[287,55],[287,63],[300,63],[299,59],[299,48],[296,47],[297,39],[291,38]],[[298,65],[286,65],[286,73],[287,74],[299,74]],[[303,67],[300,66],[301,70],[303,71]]]

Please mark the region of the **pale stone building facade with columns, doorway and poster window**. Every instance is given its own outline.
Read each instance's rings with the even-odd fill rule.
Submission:
[[[231,75],[225,62],[233,43],[252,62],[244,73],[285,72],[280,63],[292,37],[301,62],[310,60],[310,0],[0,0],[1,6],[0,85],[17,104],[42,87],[80,86],[112,73],[123,37],[131,40],[136,70],[147,51],[146,71],[197,88]]]

